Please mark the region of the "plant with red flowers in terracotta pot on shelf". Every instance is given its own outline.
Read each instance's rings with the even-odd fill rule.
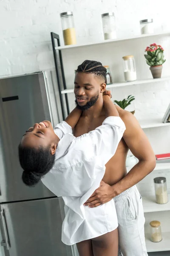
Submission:
[[[147,54],[144,54],[146,63],[150,66],[150,71],[153,78],[160,78],[162,73],[162,64],[165,62],[164,49],[161,45],[150,44],[150,47],[145,49]]]

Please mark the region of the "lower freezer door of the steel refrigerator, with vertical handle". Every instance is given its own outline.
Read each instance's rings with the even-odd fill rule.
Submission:
[[[5,255],[72,256],[71,247],[61,241],[62,198],[1,204],[1,211],[8,236],[4,236],[1,222]]]

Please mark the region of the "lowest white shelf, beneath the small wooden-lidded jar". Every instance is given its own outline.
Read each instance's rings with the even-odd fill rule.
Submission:
[[[160,252],[170,250],[170,232],[162,233],[162,241],[154,243],[150,241],[150,234],[145,234],[147,252]]]

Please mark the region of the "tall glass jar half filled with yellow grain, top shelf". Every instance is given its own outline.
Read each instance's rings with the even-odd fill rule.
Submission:
[[[61,23],[62,23],[62,33],[64,38],[64,44],[65,45],[77,44],[73,13],[62,12],[60,13],[60,17],[61,17]]]

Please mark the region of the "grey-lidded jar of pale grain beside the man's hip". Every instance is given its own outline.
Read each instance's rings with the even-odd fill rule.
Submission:
[[[156,203],[166,204],[168,202],[166,178],[156,177],[153,180],[155,185]]]

